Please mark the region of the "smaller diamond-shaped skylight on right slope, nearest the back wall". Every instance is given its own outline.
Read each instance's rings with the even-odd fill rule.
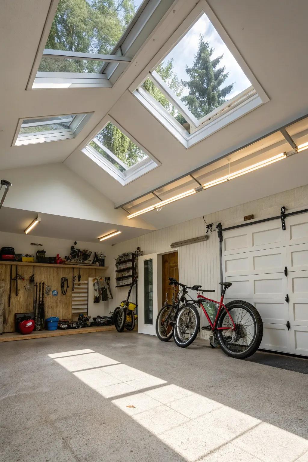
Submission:
[[[123,186],[159,165],[123,128],[110,121],[83,152]]]

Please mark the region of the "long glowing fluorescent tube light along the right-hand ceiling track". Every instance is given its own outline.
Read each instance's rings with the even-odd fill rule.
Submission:
[[[301,147],[301,146],[298,146],[298,147]],[[308,149],[308,143],[307,143],[307,146],[303,147],[302,149]],[[278,162],[278,160],[284,159],[286,157],[287,156],[285,152],[281,152],[280,154],[277,154],[276,156],[262,160],[261,162],[258,162],[257,164],[250,165],[250,167],[246,167],[242,170],[237,170],[234,173],[230,173],[229,175],[225,175],[225,176],[222,176],[221,178],[217,178],[216,180],[212,180],[208,183],[205,183],[203,186],[199,188],[190,189],[189,191],[186,191],[185,193],[178,194],[174,197],[170,197],[170,199],[166,199],[165,201],[158,202],[158,204],[154,204],[151,207],[147,207],[142,210],[139,210],[139,212],[135,212],[135,213],[132,213],[131,215],[128,215],[127,218],[131,219],[134,217],[138,217],[138,215],[141,215],[142,213],[150,212],[151,210],[163,207],[164,205],[170,204],[171,202],[175,202],[175,201],[178,201],[179,199],[183,199],[184,197],[190,196],[195,193],[199,193],[199,191],[202,191],[203,189],[211,188],[212,186],[216,186],[217,184],[224,183],[226,181],[232,180],[233,178],[237,178],[238,176],[245,175],[246,173],[252,172],[254,170],[258,170],[262,167],[266,167],[266,165],[273,164],[274,162]]]

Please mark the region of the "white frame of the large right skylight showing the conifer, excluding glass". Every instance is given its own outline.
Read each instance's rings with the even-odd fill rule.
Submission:
[[[160,78],[155,69],[165,59],[165,57],[169,55],[170,51],[175,48],[175,46],[203,14],[205,14],[211,21],[211,24],[223,40],[223,43],[229,49],[252,85],[198,121],[185,104],[181,102],[180,98],[178,98],[169,89],[169,86]],[[142,103],[153,116],[155,116],[158,122],[167,128],[186,149],[269,101],[269,98],[260,83],[251,72],[235,44],[232,42],[226,30],[223,28],[222,24],[219,22],[205,0],[200,0],[193,10],[187,15],[187,18],[184,19],[178,29],[169,37],[169,40],[167,40],[162,49],[151,60],[149,66],[140,77],[142,80],[140,81],[139,79],[138,81],[136,79],[130,86],[129,90],[139,100],[139,102]],[[147,78],[151,79],[154,85],[157,86],[163,95],[167,97],[170,103],[173,104],[178,112],[180,112],[186,119],[190,125],[190,133],[142,87]]]

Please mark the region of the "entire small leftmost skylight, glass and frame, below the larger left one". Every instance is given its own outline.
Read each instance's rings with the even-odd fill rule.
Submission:
[[[75,138],[91,114],[20,119],[13,146]]]

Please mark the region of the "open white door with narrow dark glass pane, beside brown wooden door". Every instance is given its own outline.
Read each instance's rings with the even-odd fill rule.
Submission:
[[[157,310],[162,298],[162,256],[142,255],[138,260],[138,332],[156,335]]]

